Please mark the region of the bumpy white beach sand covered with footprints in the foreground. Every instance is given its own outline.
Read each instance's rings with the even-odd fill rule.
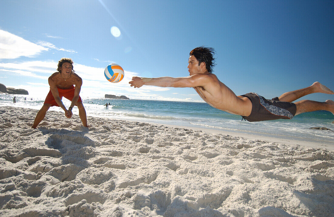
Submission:
[[[0,107],[0,216],[333,216],[334,152]]]

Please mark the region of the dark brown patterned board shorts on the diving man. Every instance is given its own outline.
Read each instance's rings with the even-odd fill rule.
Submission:
[[[247,117],[242,116],[242,118],[249,122],[291,119],[297,111],[295,103],[282,102],[278,97],[268,100],[257,93],[246,93],[241,96],[247,97],[252,101],[251,115]]]

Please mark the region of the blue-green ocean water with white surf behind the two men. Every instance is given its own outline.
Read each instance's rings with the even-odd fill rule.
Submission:
[[[13,104],[13,95],[0,94],[0,106],[39,110],[45,99],[45,96],[32,98],[32,100],[29,95],[15,96],[16,103]],[[241,116],[220,111],[206,103],[106,98],[82,98],[82,101],[88,116],[189,128],[200,127],[334,145],[334,124],[332,123],[334,115],[327,111],[303,113],[291,120],[248,122],[241,121]],[[70,101],[65,98],[63,103],[66,107],[70,105]],[[108,108],[104,106],[106,103],[110,103]],[[62,112],[62,109],[56,106],[51,107],[50,110]],[[73,108],[73,114],[78,114],[76,107]],[[333,131],[309,129],[311,127],[327,127]]]

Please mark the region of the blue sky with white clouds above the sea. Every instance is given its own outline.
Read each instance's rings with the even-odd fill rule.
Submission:
[[[2,0],[0,83],[45,98],[47,78],[68,57],[83,79],[81,97],[202,102],[192,88],[128,82],[188,76],[190,50],[205,45],[217,53],[214,73],[237,95],[272,98],[314,81],[333,90],[333,11],[333,1]],[[125,70],[117,84],[104,77],[110,63]]]

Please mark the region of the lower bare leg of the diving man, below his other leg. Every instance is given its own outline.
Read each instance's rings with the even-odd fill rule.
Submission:
[[[326,110],[332,112],[334,115],[334,101],[326,100],[326,102],[317,102],[312,100],[301,100],[296,102],[297,111],[295,115],[299,115],[304,112],[313,112],[318,110]]]

